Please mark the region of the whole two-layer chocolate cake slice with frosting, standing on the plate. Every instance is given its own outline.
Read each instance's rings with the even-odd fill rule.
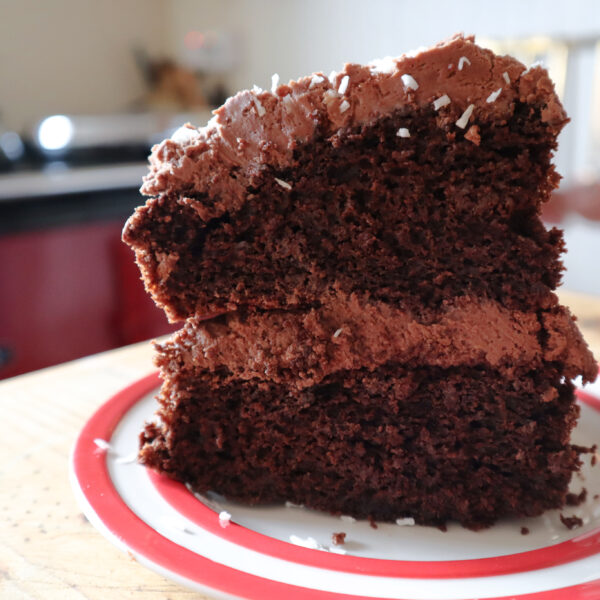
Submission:
[[[565,501],[568,379],[540,207],[567,118],[471,38],[245,91],[156,146],[124,239],[183,329],[141,460],[251,503],[479,528]]]

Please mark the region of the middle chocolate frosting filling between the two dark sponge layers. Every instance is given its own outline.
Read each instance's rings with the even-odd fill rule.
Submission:
[[[540,342],[542,327],[547,340]],[[162,346],[184,368],[304,388],[340,370],[373,370],[387,362],[449,368],[485,365],[507,376],[520,366],[563,362],[567,377],[596,376],[597,366],[568,310],[508,310],[490,300],[457,298],[432,322],[355,295],[328,298],[306,312],[274,311],[212,321],[190,319]],[[159,362],[164,357],[159,356]]]

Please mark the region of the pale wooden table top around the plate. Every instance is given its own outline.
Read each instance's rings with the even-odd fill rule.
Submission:
[[[600,358],[600,299],[562,292]],[[86,420],[153,370],[148,342],[0,382],[0,598],[204,598],[142,567],[85,519],[68,458]]]

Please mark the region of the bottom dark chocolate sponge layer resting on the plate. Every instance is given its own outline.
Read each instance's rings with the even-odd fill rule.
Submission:
[[[196,491],[357,518],[478,529],[564,503],[578,467],[572,386],[548,366],[340,371],[291,393],[167,369],[141,460]]]

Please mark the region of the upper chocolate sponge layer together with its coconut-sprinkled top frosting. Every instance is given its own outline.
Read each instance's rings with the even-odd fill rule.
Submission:
[[[335,290],[548,307],[563,244],[539,209],[566,117],[546,72],[463,38],[387,67],[242,92],[154,149],[124,239],[171,319]]]

